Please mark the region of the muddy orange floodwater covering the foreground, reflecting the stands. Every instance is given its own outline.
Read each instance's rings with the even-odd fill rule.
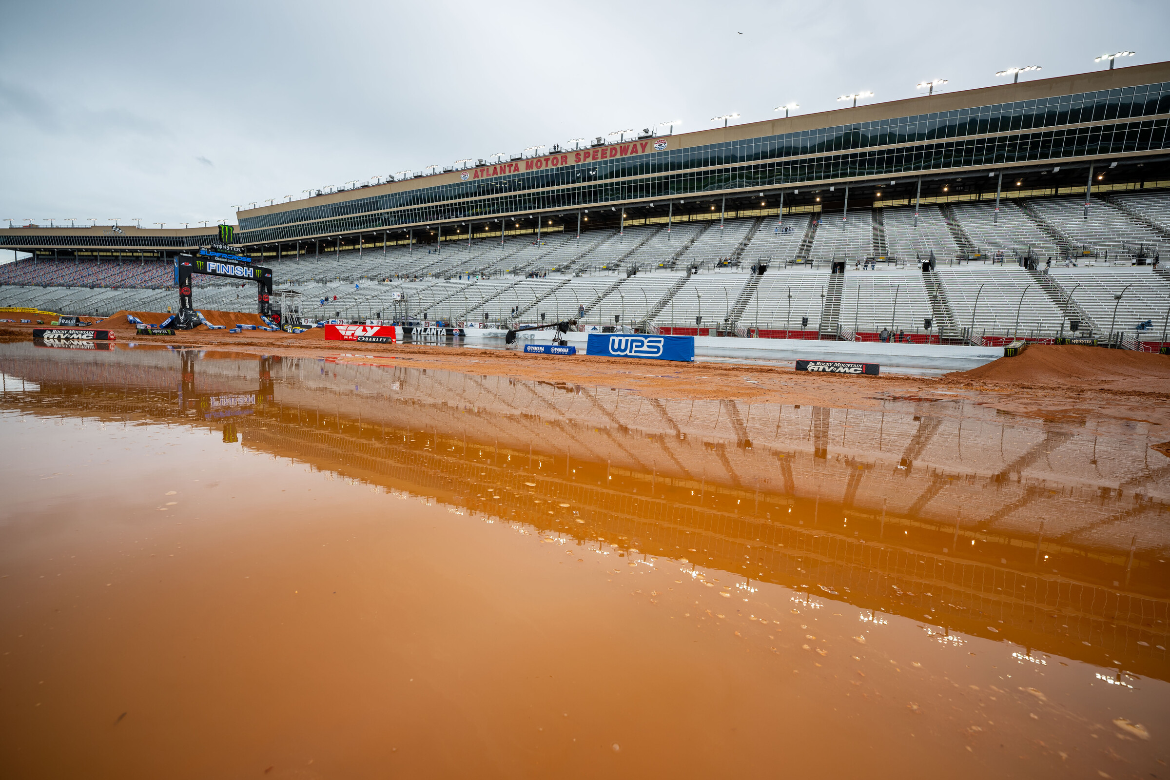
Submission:
[[[6,776],[1166,776],[1170,437],[0,345]]]

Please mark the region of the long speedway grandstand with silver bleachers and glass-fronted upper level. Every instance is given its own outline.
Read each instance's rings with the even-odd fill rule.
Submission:
[[[1170,311],[1170,138],[1128,119],[1168,113],[1170,63],[1156,63],[647,131],[640,144],[553,145],[243,210],[234,250],[273,268],[314,319],[544,315],[583,327],[862,340],[889,329],[975,344],[1068,336],[1075,320],[1079,337],[1154,348]],[[997,117],[1010,118],[1002,131]],[[1066,124],[1093,134],[1058,143]],[[1042,137],[1021,131],[1041,125]],[[0,229],[0,248],[30,254],[0,265],[0,305],[165,311],[178,298],[173,258],[213,237]],[[254,305],[228,279],[197,288],[199,308]]]

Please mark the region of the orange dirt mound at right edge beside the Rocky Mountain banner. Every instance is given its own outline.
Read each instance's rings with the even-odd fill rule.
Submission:
[[[1032,345],[1014,358],[947,374],[973,382],[1170,393],[1170,356],[1096,346]]]

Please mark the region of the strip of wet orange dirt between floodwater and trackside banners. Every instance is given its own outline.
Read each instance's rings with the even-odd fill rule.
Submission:
[[[209,347],[235,353],[317,357],[342,363],[404,365],[415,368],[495,374],[536,381],[625,388],[647,398],[739,399],[753,402],[808,403],[874,408],[892,399],[942,401],[966,399],[1005,412],[1052,421],[1083,423],[1089,416],[1143,420],[1170,427],[1170,357],[1088,346],[1032,346],[1016,358],[941,378],[840,377],[789,368],[680,364],[578,354],[555,357],[518,351],[453,348],[414,344],[330,341],[324,331],[302,334],[267,331],[208,331],[176,336],[136,336],[126,312],[104,320],[119,344]],[[144,322],[165,317],[135,312]],[[212,312],[204,312],[212,319]],[[122,323],[117,322],[121,317]],[[247,322],[256,315],[215,312],[216,319]],[[215,320],[212,320],[215,322]],[[16,326],[25,330],[28,325]]]

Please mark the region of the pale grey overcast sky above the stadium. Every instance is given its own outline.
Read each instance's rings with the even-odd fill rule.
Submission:
[[[236,203],[666,119],[1170,60],[1165,0],[9,0],[4,27],[0,214],[41,225],[234,222]]]

